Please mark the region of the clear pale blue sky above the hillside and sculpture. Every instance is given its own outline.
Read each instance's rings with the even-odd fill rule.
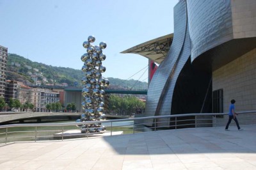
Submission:
[[[31,61],[80,70],[81,56],[86,52],[83,42],[93,35],[93,45],[107,43],[103,50],[103,77],[147,82],[148,59],[120,52],[173,33],[173,7],[177,3],[178,0],[0,0],[0,45],[7,47],[8,53]]]

